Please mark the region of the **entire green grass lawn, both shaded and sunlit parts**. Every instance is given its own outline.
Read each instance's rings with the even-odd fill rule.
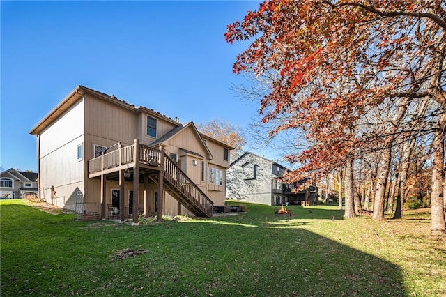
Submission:
[[[428,211],[343,220],[331,206],[130,226],[1,200],[1,296],[446,296]],[[124,249],[146,252],[125,259]]]

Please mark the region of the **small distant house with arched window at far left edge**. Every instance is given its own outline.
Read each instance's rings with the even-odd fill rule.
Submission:
[[[20,199],[38,195],[36,172],[20,172],[10,168],[0,174],[0,192],[3,199]]]

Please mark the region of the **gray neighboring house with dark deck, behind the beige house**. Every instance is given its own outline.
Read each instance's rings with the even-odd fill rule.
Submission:
[[[295,192],[298,183],[283,183],[289,169],[254,153],[244,153],[231,163],[226,172],[226,188],[230,199],[268,205],[316,203],[317,188],[310,186]]]

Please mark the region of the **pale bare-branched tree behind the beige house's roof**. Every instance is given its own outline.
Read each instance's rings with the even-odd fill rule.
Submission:
[[[243,153],[243,146],[246,144],[242,129],[238,125],[220,119],[214,119],[206,123],[198,123],[197,129],[220,142],[233,146],[231,160],[236,160]]]

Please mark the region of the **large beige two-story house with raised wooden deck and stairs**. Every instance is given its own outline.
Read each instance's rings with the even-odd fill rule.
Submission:
[[[77,86],[30,133],[39,197],[57,206],[124,220],[133,213],[211,216],[213,204],[224,205],[233,148],[192,122]]]

